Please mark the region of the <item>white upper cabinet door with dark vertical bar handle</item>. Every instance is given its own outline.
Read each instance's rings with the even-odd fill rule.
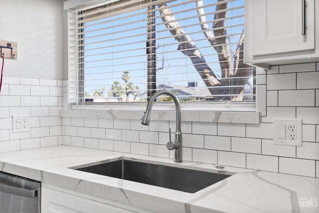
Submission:
[[[314,0],[306,0],[305,35],[303,0],[252,0],[251,3],[253,56],[315,48]]]

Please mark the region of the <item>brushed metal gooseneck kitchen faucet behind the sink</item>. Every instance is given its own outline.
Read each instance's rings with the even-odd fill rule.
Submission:
[[[175,110],[176,110],[176,130],[174,133],[174,142],[170,141],[170,129],[169,129],[169,142],[166,144],[166,147],[168,150],[175,150],[175,157],[174,162],[180,163],[181,160],[181,131],[180,131],[180,104],[179,100],[172,92],[161,89],[157,92],[155,92],[148,103],[148,106],[146,107],[146,111],[144,113],[144,116],[142,117],[142,124],[143,125],[149,125],[150,124],[150,117],[151,117],[151,111],[153,107],[154,101],[159,97],[160,95],[168,95],[171,97],[175,103]]]

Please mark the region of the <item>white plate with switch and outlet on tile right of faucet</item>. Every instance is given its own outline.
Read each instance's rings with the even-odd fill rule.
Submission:
[[[283,135],[283,133],[280,133],[280,129],[278,128],[279,125],[282,127],[282,125],[285,125],[285,132],[284,135],[286,135],[285,139],[280,139],[280,135]],[[296,130],[290,131],[289,126],[295,125]],[[291,133],[296,134],[296,139],[291,140],[289,139],[289,135]],[[275,145],[284,145],[284,146],[299,146],[301,147],[303,144],[303,130],[302,130],[302,119],[274,119],[274,144]]]

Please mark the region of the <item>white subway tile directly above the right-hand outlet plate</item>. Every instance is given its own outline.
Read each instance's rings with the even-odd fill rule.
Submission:
[[[262,117],[262,122],[273,123],[274,118],[296,118],[295,107],[267,107],[267,116]]]

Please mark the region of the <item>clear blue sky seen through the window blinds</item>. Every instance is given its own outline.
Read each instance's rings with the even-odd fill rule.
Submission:
[[[187,33],[200,31],[198,17],[185,17],[197,15],[196,3],[180,4],[185,0],[175,0],[167,3],[168,5],[178,4],[171,7],[172,12],[177,12],[174,16],[179,25]],[[204,0],[204,5],[216,2],[216,0]],[[228,8],[242,6],[244,0],[236,0],[228,3]],[[158,7],[156,7],[158,8]],[[187,12],[178,12],[194,8]],[[205,13],[215,11],[215,6],[204,8]],[[112,17],[103,18],[93,22],[85,23],[85,92],[93,95],[92,90],[105,86],[107,90],[111,89],[114,81],[123,83],[121,76],[123,71],[130,71],[131,82],[141,88],[141,92],[147,89],[147,57],[146,57],[146,40],[147,40],[147,21],[141,19],[147,18],[146,9],[123,13]],[[142,14],[141,14],[142,12]],[[145,12],[145,13],[143,13]],[[229,10],[227,17],[240,15],[242,17],[231,18],[226,20],[226,25],[235,25],[244,23],[244,8]],[[129,18],[122,18],[133,15]],[[156,11],[156,16],[160,15]],[[119,19],[119,20],[114,20]],[[181,20],[184,19],[184,20]],[[213,14],[206,15],[207,21],[213,20]],[[131,23],[133,22],[133,23]],[[161,23],[161,18],[156,19],[156,23]],[[194,26],[183,27],[194,24]],[[212,22],[208,25],[212,27]],[[133,29],[133,30],[132,30]],[[178,42],[171,36],[164,24],[156,25],[157,44],[157,85],[170,84],[187,86],[187,82],[196,81],[198,87],[205,87],[203,80],[195,70],[190,59],[182,52],[177,50]],[[243,26],[227,28],[228,34],[241,33]],[[120,32],[119,32],[120,31]],[[118,33],[114,33],[118,32]],[[191,33],[190,37],[195,41],[196,46],[214,73],[220,76],[220,65],[218,57],[213,47],[204,39],[202,32]],[[231,42],[237,42],[240,35],[230,36]],[[129,44],[131,43],[131,44]],[[229,49],[236,50],[237,44],[229,45]],[[132,51],[132,49],[135,49]],[[163,53],[165,52],[165,53]],[[96,55],[98,54],[98,55]],[[90,56],[92,55],[92,56]],[[162,59],[164,62],[162,63]],[[162,66],[163,65],[163,66]],[[107,93],[105,94],[107,95]]]

